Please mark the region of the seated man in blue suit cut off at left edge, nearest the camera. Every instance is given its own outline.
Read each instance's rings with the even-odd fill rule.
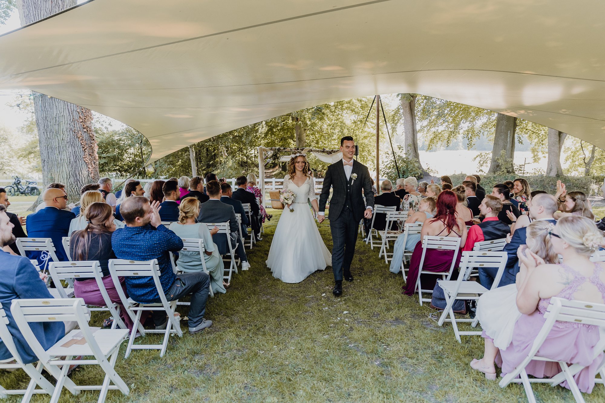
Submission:
[[[6,215],[6,206],[0,205],[0,248],[15,242],[12,230],[13,224]],[[41,280],[40,273],[28,258],[13,256],[0,250],[0,303],[6,313],[8,331],[13,336],[15,347],[25,364],[38,361],[38,356],[30,349],[28,342],[25,341],[15,324],[13,314],[10,312],[10,305],[15,299],[28,298],[52,300],[53,296],[48,292],[46,284]],[[65,336],[63,322],[36,322],[29,325],[44,349],[50,349]],[[11,356],[4,342],[0,342],[0,360],[9,359]]]

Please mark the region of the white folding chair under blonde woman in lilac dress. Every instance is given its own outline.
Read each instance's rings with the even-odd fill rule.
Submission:
[[[555,361],[546,357],[538,356],[538,350],[542,346],[546,337],[551,332],[552,327],[555,325],[555,321],[560,322],[572,322],[581,323],[584,325],[598,326],[601,332],[601,339],[595,346],[593,356],[596,358],[600,353],[603,353],[605,347],[605,338],[603,337],[603,330],[605,330],[605,304],[588,303],[578,300],[564,300],[563,298],[552,297],[551,303],[548,306],[548,310],[544,315],[546,321],[543,324],[540,332],[534,339],[531,349],[528,355],[523,361],[517,365],[514,371],[507,373],[500,381],[500,387],[506,387],[511,382],[522,383],[525,388],[525,394],[527,395],[530,403],[535,403],[534,392],[531,388],[532,383],[548,383],[552,386],[560,384],[562,381],[567,381],[567,385],[571,389],[576,402],[584,402],[582,393],[575,383],[574,375],[580,372],[583,367],[581,365],[567,365],[567,362]],[[565,349],[566,346],[561,346],[561,349]],[[525,367],[530,361],[548,361],[557,362],[561,367],[561,372],[555,375],[553,378],[532,378],[529,379],[528,373],[525,371]],[[603,362],[598,367],[598,372],[601,375],[601,379],[598,379],[601,383],[605,379],[605,371],[603,370]],[[517,378],[520,376],[520,378]]]

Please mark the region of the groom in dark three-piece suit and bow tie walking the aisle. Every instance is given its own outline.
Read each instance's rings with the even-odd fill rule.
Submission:
[[[351,262],[355,254],[355,242],[362,217],[371,218],[374,207],[374,192],[367,166],[353,160],[355,140],[351,136],[341,139],[342,160],[333,163],[325,172],[324,186],[319,195],[318,221],[325,219],[325,202],[330,195],[330,230],[332,231],[332,270],[335,287],[332,293],[342,295],[342,277],[353,281]],[[364,199],[361,195],[364,189]]]

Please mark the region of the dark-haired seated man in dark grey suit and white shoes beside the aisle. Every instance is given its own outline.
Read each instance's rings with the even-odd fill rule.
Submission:
[[[214,234],[212,239],[218,246],[218,252],[221,255],[229,253],[229,245],[227,241],[231,242],[232,246],[238,243],[235,253],[241,259],[241,269],[247,270],[250,268],[246,251],[244,250],[244,243],[240,238],[240,229],[237,228],[237,218],[235,217],[235,210],[233,206],[226,205],[221,199],[221,185],[217,180],[211,180],[206,183],[206,194],[210,197],[210,200],[204,201],[200,205],[200,215],[197,217],[198,223],[224,223],[229,221],[229,229],[231,230],[231,237],[227,240],[225,234]]]

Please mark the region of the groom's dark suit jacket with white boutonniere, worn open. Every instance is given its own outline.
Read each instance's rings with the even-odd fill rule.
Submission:
[[[357,174],[357,179],[353,180],[353,174]],[[353,160],[353,170],[351,177],[347,180],[347,174],[344,172],[342,160],[338,160],[328,167],[325,172],[324,186],[319,195],[319,211],[325,211],[325,203],[330,195],[330,187],[333,188],[332,198],[330,198],[330,220],[336,220],[345,207],[347,201],[347,192],[350,199],[350,208],[353,211],[353,217],[356,221],[361,221],[364,217],[366,206],[374,208],[374,192],[370,180],[370,172],[367,166],[357,160]],[[364,190],[364,198],[361,190]]]

